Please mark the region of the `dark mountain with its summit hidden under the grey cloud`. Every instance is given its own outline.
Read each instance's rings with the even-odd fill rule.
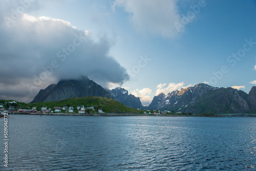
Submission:
[[[88,77],[60,80],[40,90],[31,103],[59,101],[71,97],[98,96],[112,98],[111,94]]]

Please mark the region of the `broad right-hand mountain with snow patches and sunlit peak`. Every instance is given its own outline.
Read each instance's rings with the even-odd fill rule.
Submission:
[[[249,94],[232,88],[216,88],[200,83],[195,87],[155,96],[148,109],[185,113],[256,112],[256,87]]]

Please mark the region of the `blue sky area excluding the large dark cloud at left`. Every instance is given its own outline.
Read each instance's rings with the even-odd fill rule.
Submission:
[[[18,6],[6,6],[2,15],[10,15]],[[130,79],[104,81],[90,74],[89,78],[103,87],[121,86],[144,105],[158,93],[202,82],[214,87],[238,86],[234,88],[247,93],[256,84],[256,1],[37,1],[23,14],[70,22],[76,30],[87,30],[94,42],[106,39],[105,55],[114,58]],[[179,31],[175,23],[182,24]],[[248,41],[252,43],[245,45]],[[229,57],[232,53],[242,57]],[[38,90],[57,78],[49,77]]]

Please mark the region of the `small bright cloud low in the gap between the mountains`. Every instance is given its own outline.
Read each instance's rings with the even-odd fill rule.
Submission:
[[[152,98],[149,96],[152,90],[148,88],[144,88],[142,90],[134,90],[131,94],[140,98],[142,105],[149,105],[152,101]]]

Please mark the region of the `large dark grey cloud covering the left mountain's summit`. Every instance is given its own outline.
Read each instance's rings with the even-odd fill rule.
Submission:
[[[107,37],[95,40],[64,20],[26,13],[6,25],[6,15],[0,14],[0,99],[28,102],[61,78],[88,75],[99,83],[119,84],[129,79],[109,55],[113,43]]]

